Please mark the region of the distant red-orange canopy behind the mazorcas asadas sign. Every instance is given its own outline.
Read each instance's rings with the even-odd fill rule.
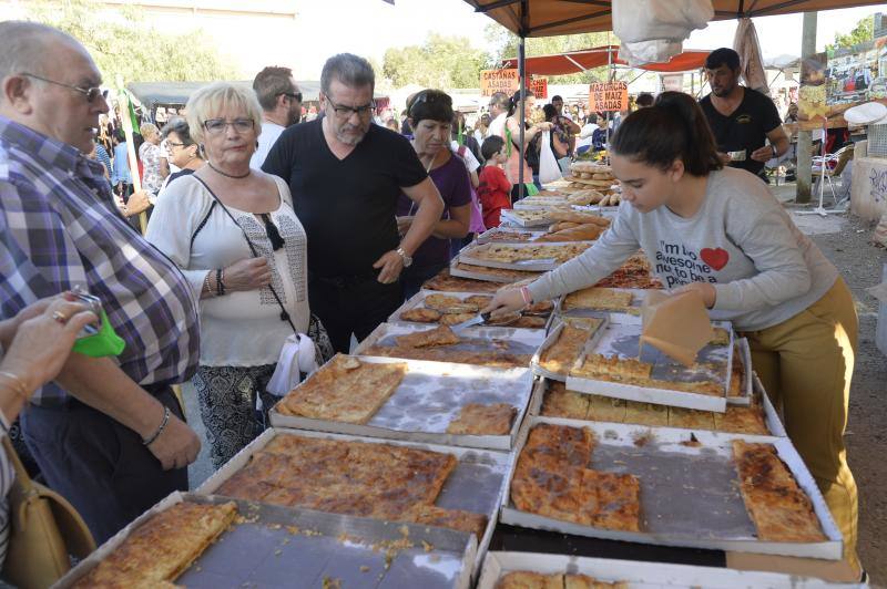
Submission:
[[[699,70],[705,63],[705,58],[708,53],[708,51],[687,50],[666,62],[646,63],[638,69],[651,72],[686,72],[690,70]],[[526,58],[524,63],[528,74],[561,75],[583,72],[609,64],[628,65],[626,62],[616,58],[618,54],[619,45],[608,45],[560,53],[558,55]],[[504,60],[502,66],[517,68],[518,59],[512,58],[510,60]]]

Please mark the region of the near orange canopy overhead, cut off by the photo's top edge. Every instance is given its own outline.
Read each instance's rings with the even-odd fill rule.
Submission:
[[[465,0],[518,37],[612,31],[610,0]],[[880,4],[879,0],[712,0],[714,20]]]

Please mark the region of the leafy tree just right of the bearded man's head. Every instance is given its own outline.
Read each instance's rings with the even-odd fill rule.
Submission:
[[[383,74],[397,86],[477,87],[488,55],[465,37],[431,33],[421,45],[390,48],[383,58]]]

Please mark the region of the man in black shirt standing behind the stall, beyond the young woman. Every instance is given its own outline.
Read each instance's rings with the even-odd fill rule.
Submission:
[[[788,151],[776,105],[767,96],[738,84],[740,54],[728,48],[705,60],[712,92],[700,101],[714,133],[721,158],[759,175],[764,164]],[[769,145],[764,141],[769,140]]]

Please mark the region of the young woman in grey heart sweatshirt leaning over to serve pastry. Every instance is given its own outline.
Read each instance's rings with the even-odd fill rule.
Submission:
[[[612,141],[623,204],[590,249],[486,311],[590,287],[642,248],[666,288],[695,290],[748,338],[754,369],[856,562],[856,483],[844,428],[857,339],[847,285],[754,175],[725,168],[700,106],[679,92],[631,114]]]

